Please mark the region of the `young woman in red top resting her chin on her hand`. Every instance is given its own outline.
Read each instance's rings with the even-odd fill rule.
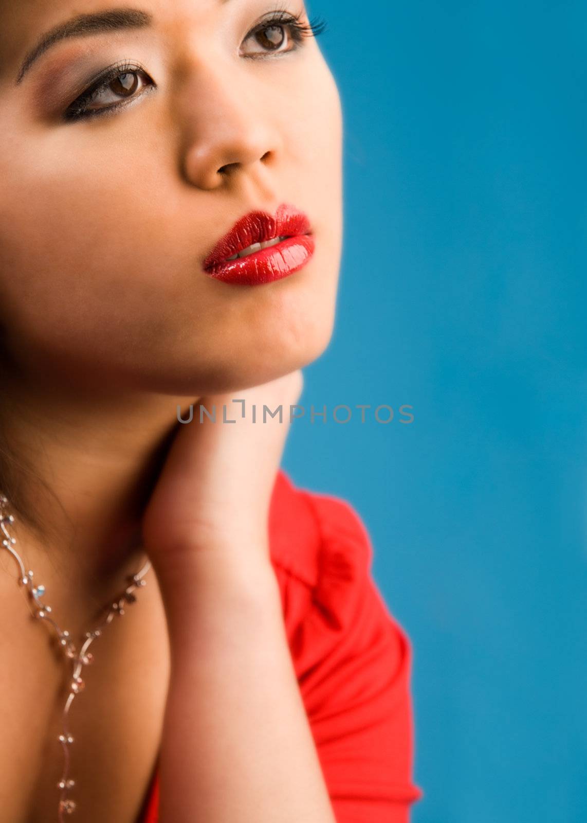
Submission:
[[[340,265],[321,24],[0,9],[2,821],[407,821],[409,639],[280,470]]]

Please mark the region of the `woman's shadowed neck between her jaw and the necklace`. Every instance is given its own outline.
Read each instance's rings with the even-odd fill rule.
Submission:
[[[15,515],[14,547],[53,601],[108,601],[146,560],[142,514],[181,425],[178,406],[185,412],[197,398],[80,398],[62,386],[41,391],[38,382],[34,393],[9,388],[2,405],[9,482],[0,491]]]

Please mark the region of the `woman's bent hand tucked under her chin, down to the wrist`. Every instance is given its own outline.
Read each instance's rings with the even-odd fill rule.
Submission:
[[[198,552],[269,560],[267,522],[271,491],[289,432],[289,406],[303,388],[301,371],[230,394],[201,398],[190,423],[178,424],[164,467],[143,516],[145,548],[158,574],[181,570]],[[244,417],[243,402],[244,401]],[[257,421],[252,422],[252,406]],[[279,415],[266,415],[263,405]],[[226,420],[223,422],[223,406]],[[212,412],[200,422],[200,406]],[[184,414],[187,417],[187,414]]]

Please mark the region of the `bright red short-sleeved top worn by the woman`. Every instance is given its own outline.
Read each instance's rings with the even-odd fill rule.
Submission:
[[[298,489],[280,470],[270,556],[294,661],[337,823],[408,823],[423,797],[412,780],[412,649],[371,576],[356,511]],[[159,774],[137,823],[157,823]]]

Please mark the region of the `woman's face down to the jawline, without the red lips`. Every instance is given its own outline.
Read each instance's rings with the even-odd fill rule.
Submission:
[[[334,322],[342,116],[316,40],[298,42],[283,22],[307,24],[302,0],[138,0],[125,10],[144,12],[144,25],[88,21],[16,82],[55,26],[118,6],[0,0],[7,356],[20,374],[178,395],[307,364]],[[271,12],[281,21],[268,29]],[[67,119],[113,65],[118,76],[90,101],[108,111]],[[284,202],[312,226],[304,267],[261,286],[206,274],[206,256],[241,216],[275,215]]]

